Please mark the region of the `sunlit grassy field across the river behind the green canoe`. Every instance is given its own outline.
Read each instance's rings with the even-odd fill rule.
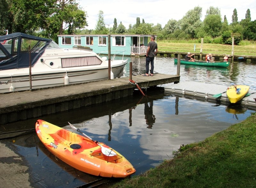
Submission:
[[[176,43],[176,42],[161,42],[157,41],[158,51],[171,51],[171,52],[193,52],[194,45],[196,44],[196,53],[200,53],[201,43]],[[226,44],[203,44],[202,53],[212,53],[212,54],[229,54],[231,55],[232,45]],[[234,55],[239,56],[256,56],[256,44],[243,44],[234,45]]]

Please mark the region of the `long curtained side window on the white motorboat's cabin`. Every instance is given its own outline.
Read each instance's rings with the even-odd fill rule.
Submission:
[[[100,65],[101,63],[102,63],[102,61],[96,56],[77,57],[77,58],[61,58],[62,68]]]

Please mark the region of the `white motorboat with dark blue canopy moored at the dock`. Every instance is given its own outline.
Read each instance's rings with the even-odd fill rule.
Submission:
[[[123,58],[111,59],[114,78],[123,75]],[[0,36],[0,93],[107,79],[108,59],[91,50],[61,49],[23,33]]]

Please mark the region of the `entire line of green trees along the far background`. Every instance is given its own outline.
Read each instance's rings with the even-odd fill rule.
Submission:
[[[196,6],[189,10],[181,20],[170,19],[164,27],[157,23],[146,23],[136,18],[134,25],[128,28],[113,20],[113,27],[107,28],[104,23],[103,11],[99,11],[95,29],[84,29],[88,26],[87,12],[76,0],[0,0],[0,35],[6,30],[9,33],[22,32],[31,35],[52,38],[58,41],[57,35],[62,34],[140,34],[157,35],[158,40],[189,40],[204,38],[204,43],[235,44],[241,40],[256,41],[256,20],[251,21],[250,9],[245,12],[245,19],[238,21],[234,9],[232,23],[228,24],[226,15],[221,18],[220,9],[210,6],[204,17],[202,7]]]

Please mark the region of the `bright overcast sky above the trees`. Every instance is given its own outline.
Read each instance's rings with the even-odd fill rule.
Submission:
[[[220,9],[223,21],[226,15],[228,23],[232,22],[234,9],[237,11],[238,21],[245,19],[247,9],[250,9],[251,20],[256,20],[256,2],[255,0],[78,0],[78,3],[87,12],[87,29],[95,29],[98,20],[99,11],[103,11],[103,18],[106,27],[113,27],[116,18],[117,25],[122,24],[128,29],[129,24],[136,24],[136,18],[142,19],[146,23],[153,23],[154,26],[159,23],[162,28],[167,24],[168,20],[180,20],[189,10],[193,10],[196,6],[202,7],[202,17],[204,20],[206,10],[210,6]]]

